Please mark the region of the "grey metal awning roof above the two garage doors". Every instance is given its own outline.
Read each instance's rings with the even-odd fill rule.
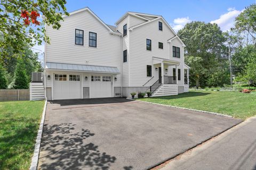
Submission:
[[[108,74],[120,73],[117,67],[82,65],[82,64],[65,64],[65,63],[52,63],[52,62],[46,62],[46,69],[60,70],[60,71],[108,73]]]

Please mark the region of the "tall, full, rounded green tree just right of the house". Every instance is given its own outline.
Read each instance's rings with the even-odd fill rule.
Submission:
[[[226,38],[217,24],[193,21],[178,32],[185,47],[185,62],[190,65],[190,86],[214,86],[207,83],[213,72],[220,71]],[[194,68],[193,68],[194,67]],[[210,81],[212,82],[212,81]]]

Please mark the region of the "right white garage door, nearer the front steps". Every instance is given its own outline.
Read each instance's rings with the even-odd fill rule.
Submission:
[[[90,98],[112,97],[111,76],[92,75],[90,88]]]

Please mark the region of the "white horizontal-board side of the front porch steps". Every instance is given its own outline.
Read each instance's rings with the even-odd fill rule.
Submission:
[[[158,97],[171,95],[178,95],[178,84],[161,84],[151,96]]]

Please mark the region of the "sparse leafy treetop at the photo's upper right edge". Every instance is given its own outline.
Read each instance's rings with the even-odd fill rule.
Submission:
[[[256,4],[252,4],[246,7],[235,19],[234,31],[248,35],[247,41],[252,39],[254,46],[256,47]]]

